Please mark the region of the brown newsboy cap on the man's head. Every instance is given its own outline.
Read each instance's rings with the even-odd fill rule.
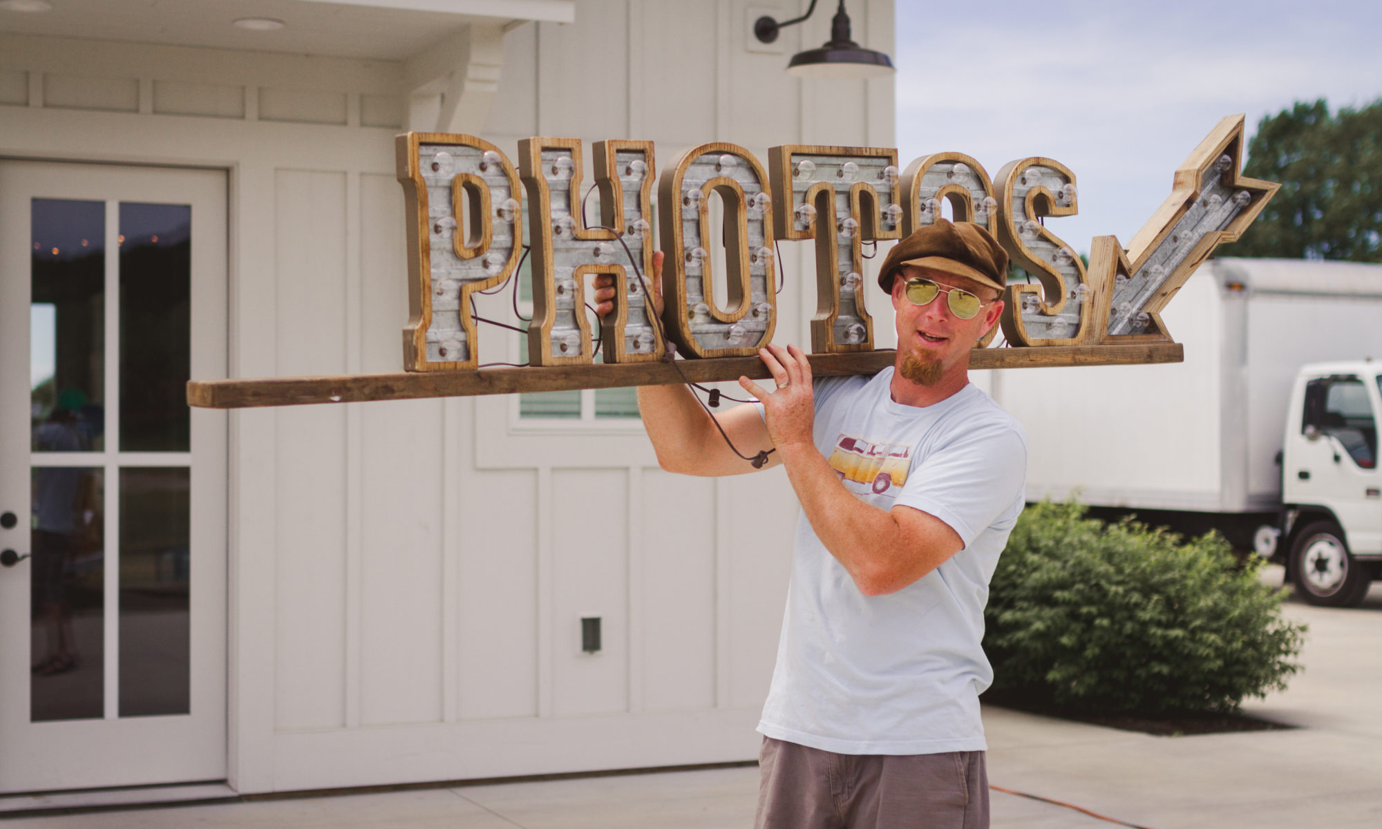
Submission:
[[[966,276],[998,290],[1007,283],[1007,251],[988,231],[969,221],[937,218],[894,245],[878,272],[878,286],[893,293],[893,278],[904,265]]]

